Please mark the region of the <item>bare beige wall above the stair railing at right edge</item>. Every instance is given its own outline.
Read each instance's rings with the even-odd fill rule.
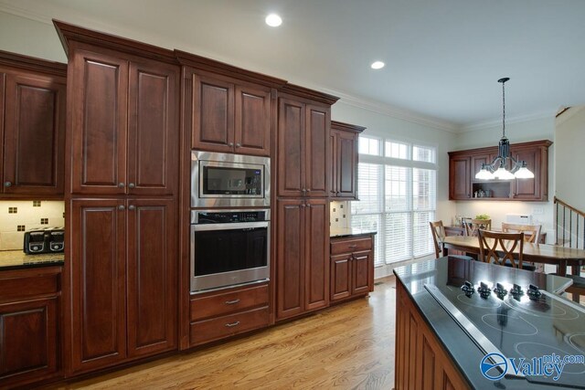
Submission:
[[[585,211],[585,180],[579,170],[585,166],[585,106],[563,112],[556,121],[555,195],[579,210]]]

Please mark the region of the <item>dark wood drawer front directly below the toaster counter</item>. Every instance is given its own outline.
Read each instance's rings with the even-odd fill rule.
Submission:
[[[60,269],[22,269],[0,274],[0,300],[58,294]]]

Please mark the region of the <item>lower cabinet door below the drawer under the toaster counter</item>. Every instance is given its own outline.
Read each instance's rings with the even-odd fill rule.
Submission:
[[[58,372],[57,298],[0,305],[0,383],[8,385]]]

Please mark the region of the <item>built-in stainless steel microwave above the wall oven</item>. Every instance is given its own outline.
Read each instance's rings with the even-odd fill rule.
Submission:
[[[270,206],[269,157],[191,152],[191,207]]]

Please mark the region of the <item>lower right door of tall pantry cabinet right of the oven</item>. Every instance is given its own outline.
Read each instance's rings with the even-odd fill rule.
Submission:
[[[329,305],[329,206],[325,199],[311,199],[305,206],[304,310]]]

